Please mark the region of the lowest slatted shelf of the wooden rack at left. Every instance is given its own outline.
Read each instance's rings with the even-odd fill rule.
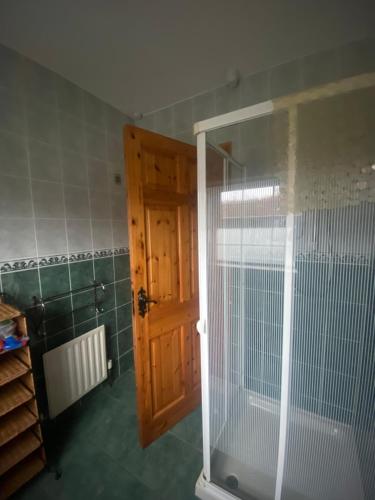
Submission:
[[[0,500],[9,498],[44,468],[43,454],[35,452],[0,478]]]

